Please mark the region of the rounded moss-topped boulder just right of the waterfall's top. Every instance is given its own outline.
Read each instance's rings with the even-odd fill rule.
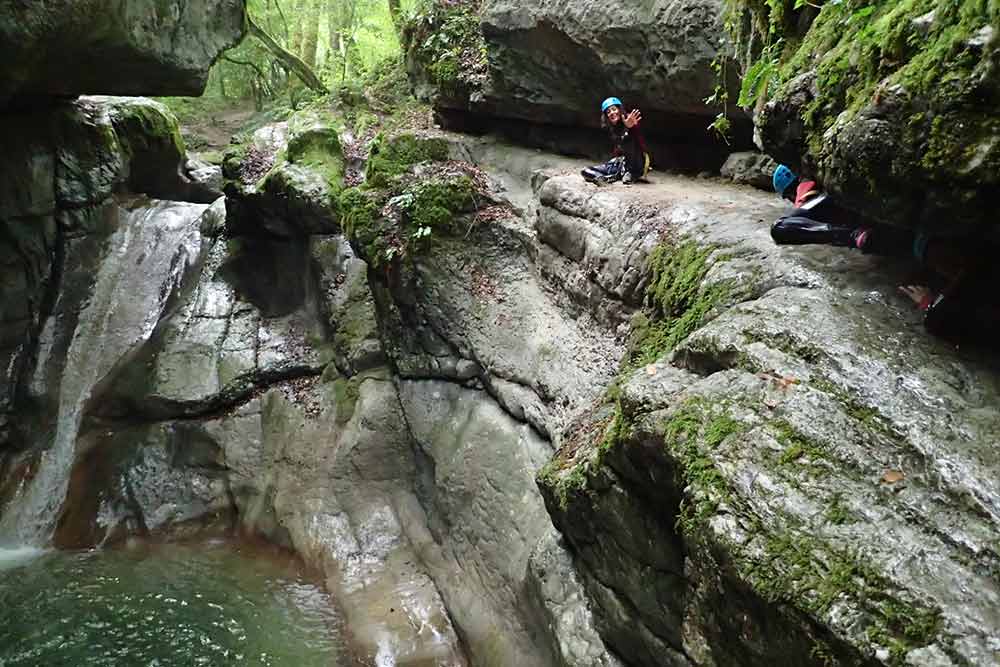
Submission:
[[[330,114],[306,111],[230,147],[223,161],[229,232],[291,237],[338,231],[341,129]]]

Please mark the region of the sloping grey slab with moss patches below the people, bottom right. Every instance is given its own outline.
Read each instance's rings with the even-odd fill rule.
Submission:
[[[912,269],[772,246],[773,198],[641,196],[675,249],[716,248],[704,282],[735,282],[539,478],[608,645],[649,665],[996,661],[995,360],[922,330],[895,290]]]

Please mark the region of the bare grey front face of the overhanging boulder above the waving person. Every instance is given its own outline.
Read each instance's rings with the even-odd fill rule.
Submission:
[[[615,95],[651,115],[714,116],[712,60],[724,43],[715,0],[487,0],[482,29],[503,115],[592,125]]]

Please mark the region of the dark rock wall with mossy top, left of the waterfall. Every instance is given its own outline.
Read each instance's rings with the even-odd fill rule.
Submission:
[[[16,396],[28,391],[32,350],[59,298],[58,283],[70,301],[76,298],[71,293],[85,295],[93,283],[100,247],[119,226],[115,196],[204,202],[183,170],[176,120],[152,100],[83,97],[7,113],[4,123],[0,448],[26,445],[23,433],[4,426],[7,415]]]

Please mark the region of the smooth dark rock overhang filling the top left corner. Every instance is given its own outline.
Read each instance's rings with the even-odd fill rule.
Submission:
[[[17,98],[200,95],[245,21],[243,0],[5,2],[0,108]]]

